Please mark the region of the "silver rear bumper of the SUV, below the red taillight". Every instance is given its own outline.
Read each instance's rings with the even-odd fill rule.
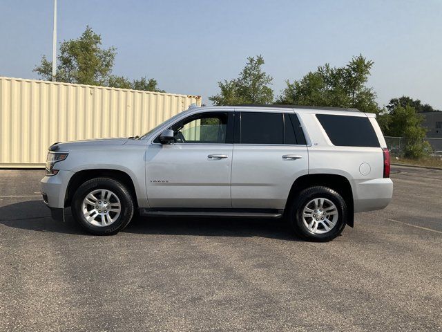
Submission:
[[[393,181],[390,178],[361,181],[354,187],[354,212],[382,210],[392,200]]]

